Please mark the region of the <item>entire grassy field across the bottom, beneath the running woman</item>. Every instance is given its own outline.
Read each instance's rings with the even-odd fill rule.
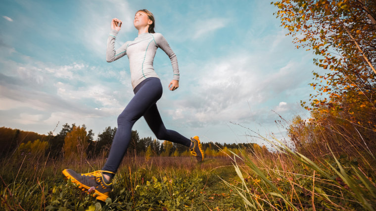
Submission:
[[[282,144],[282,143],[281,143]],[[287,147],[227,158],[126,156],[106,202],[64,180],[61,171],[98,170],[105,159],[1,161],[2,210],[374,210],[375,160],[329,153],[305,157]],[[364,157],[365,158],[365,157]]]

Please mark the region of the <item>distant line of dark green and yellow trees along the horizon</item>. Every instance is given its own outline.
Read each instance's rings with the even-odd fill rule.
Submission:
[[[87,131],[85,125],[64,124],[57,135],[49,132],[48,135],[40,135],[34,132],[26,132],[18,129],[0,128],[0,157],[6,157],[17,153],[40,154],[51,158],[68,158],[85,156],[95,158],[107,156],[112,140],[115,136],[116,127],[107,127],[98,134],[94,140],[93,130]],[[221,157],[231,154],[231,151],[238,153],[239,150],[266,150],[255,143],[219,143],[202,142],[206,157]],[[132,131],[132,141],[128,146],[127,153],[138,156],[189,156],[188,147],[172,143],[170,141],[159,141],[151,137],[140,138],[137,131]]]

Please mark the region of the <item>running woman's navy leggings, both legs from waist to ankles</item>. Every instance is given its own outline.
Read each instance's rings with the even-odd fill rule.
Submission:
[[[189,139],[175,131],[167,130],[162,122],[156,105],[162,96],[162,84],[159,78],[146,78],[133,91],[135,96],[117,119],[118,128],[106,164],[102,168],[104,171],[116,173],[132,139],[132,127],[141,116],[145,118],[157,139],[180,143],[188,147],[190,145]]]

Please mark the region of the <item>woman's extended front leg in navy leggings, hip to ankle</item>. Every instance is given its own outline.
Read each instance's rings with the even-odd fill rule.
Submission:
[[[118,128],[111,145],[103,171],[115,173],[123,160],[132,139],[135,122],[162,96],[162,85],[158,78],[147,78],[135,88],[135,96],[118,117]]]

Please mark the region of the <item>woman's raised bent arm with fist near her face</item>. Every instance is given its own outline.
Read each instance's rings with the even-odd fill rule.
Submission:
[[[117,18],[112,19],[111,32],[107,38],[107,51],[106,51],[107,62],[113,62],[127,54],[128,42],[124,43],[120,48],[115,50],[115,39],[116,39],[116,35],[118,34],[120,30],[121,23],[122,22]]]

